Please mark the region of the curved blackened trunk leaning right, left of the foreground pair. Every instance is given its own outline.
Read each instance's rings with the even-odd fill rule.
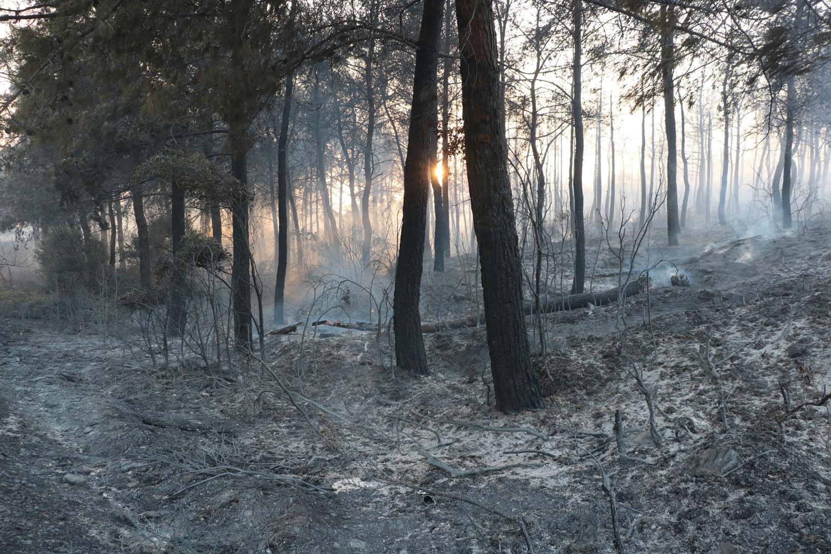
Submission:
[[[421,15],[410,133],[404,162],[404,205],[401,244],[396,264],[393,298],[396,332],[396,365],[416,375],[429,375],[424,339],[421,336],[419,303],[424,268],[424,238],[430,191],[431,151],[435,152],[438,125],[436,72],[439,65],[439,35],[443,0],[425,0]],[[434,154],[435,155],[435,154]]]

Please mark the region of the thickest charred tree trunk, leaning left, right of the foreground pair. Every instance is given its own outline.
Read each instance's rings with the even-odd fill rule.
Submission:
[[[508,147],[500,115],[493,6],[457,0],[470,203],[479,243],[484,314],[496,407],[503,412],[543,406],[525,330],[522,273]]]

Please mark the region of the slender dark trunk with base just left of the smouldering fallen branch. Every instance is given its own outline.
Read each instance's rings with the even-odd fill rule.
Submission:
[[[286,77],[283,94],[283,115],[280,118],[280,138],[277,143],[277,206],[278,206],[278,260],[277,277],[274,282],[274,323],[283,323],[283,305],[286,291],[286,270],[288,268],[288,120],[292,115],[292,93],[294,75]],[[297,233],[297,237],[300,234]],[[299,250],[298,250],[299,252]],[[298,254],[299,255],[299,254]]]

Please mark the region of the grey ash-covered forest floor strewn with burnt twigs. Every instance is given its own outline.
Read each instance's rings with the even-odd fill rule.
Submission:
[[[299,326],[223,380],[2,321],[0,552],[615,552],[612,504],[626,552],[831,552],[831,401],[802,406],[831,390],[831,228],[728,233],[644,250],[675,265],[544,316],[544,354],[529,317],[547,408],[516,415],[484,327],[425,335],[427,378],[383,330]],[[462,262],[425,321],[475,312]]]

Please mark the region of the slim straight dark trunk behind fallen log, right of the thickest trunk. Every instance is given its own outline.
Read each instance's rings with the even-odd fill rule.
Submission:
[[[573,196],[574,281],[572,294],[583,292],[586,277],[586,230],[583,223],[583,0],[574,0],[572,11],[574,56],[572,59],[572,122],[574,157],[570,193]]]

